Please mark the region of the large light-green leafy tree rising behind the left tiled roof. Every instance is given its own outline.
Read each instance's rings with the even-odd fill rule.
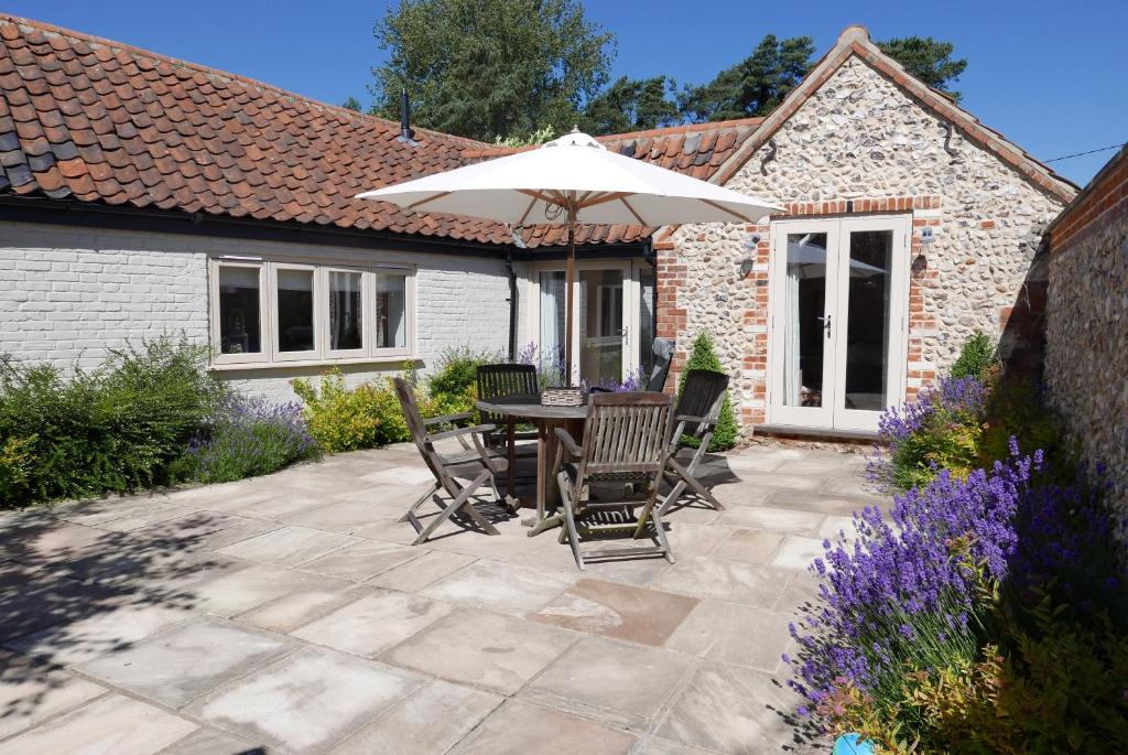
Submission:
[[[614,38],[578,0],[400,0],[376,25],[373,111],[493,141],[566,131],[607,84]]]

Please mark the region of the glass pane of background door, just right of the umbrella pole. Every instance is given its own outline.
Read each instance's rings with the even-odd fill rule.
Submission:
[[[623,271],[580,272],[580,379],[623,379]]]

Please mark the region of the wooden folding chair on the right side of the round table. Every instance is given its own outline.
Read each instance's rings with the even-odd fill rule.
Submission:
[[[717,511],[724,510],[724,504],[697,480],[697,467],[700,466],[708,445],[713,440],[713,431],[721,418],[724,406],[724,392],[729,388],[729,376],[712,370],[689,370],[686,385],[678,397],[673,410],[673,436],[670,438],[670,451],[666,459],[663,475],[673,484],[673,490],[662,500],[661,513],[678,500],[687,486],[704,498]],[[690,448],[684,442],[685,437],[696,438],[697,448],[689,464],[682,465],[677,454],[682,448]]]

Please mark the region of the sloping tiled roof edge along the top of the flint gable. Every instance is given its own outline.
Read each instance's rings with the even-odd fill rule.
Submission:
[[[746,140],[733,152],[729,161],[713,174],[712,179],[723,184],[732,178],[756,150],[767,143],[768,139],[795,114],[803,103],[854,55],[891,79],[937,117],[952,123],[969,141],[995,153],[1043,192],[1061,202],[1069,202],[1076,194],[1078,188],[1076,184],[1059,176],[1046,164],[1036,160],[999,132],[980,123],[976,116],[957,105],[949,96],[914,78],[900,63],[870,41],[870,33],[864,26],[847,26],[843,29],[835,46],[814,64],[803,81],[784,98],[779,106],[764,118],[763,125],[757,129],[752,138]]]

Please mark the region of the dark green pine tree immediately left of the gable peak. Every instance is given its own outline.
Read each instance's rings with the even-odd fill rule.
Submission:
[[[686,87],[679,104],[685,117],[702,123],[767,115],[795,88],[810,68],[811,37],[765,36],[752,54],[708,84]]]

